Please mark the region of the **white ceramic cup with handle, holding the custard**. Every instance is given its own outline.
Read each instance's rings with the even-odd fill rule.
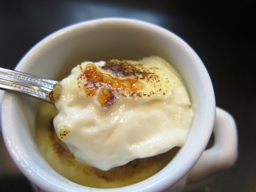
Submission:
[[[153,177],[131,186],[89,188],[59,175],[47,164],[36,145],[35,117],[41,101],[14,93],[4,95],[2,132],[6,147],[15,164],[37,189],[54,192],[182,191],[187,182],[235,163],[237,132],[233,117],[216,108],[211,79],[198,55],[166,29],[122,18],[77,23],[36,44],[21,59],[16,70],[56,79],[85,60],[138,60],[150,55],[170,62],[181,74],[193,102],[195,117],[185,145],[172,161]],[[215,143],[205,150],[213,130]]]

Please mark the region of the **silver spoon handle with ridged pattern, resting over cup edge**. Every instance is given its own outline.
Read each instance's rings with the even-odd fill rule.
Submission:
[[[0,68],[0,89],[21,93],[54,104],[51,94],[58,81]]]

